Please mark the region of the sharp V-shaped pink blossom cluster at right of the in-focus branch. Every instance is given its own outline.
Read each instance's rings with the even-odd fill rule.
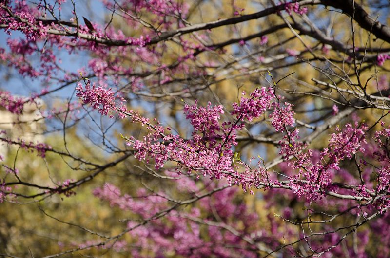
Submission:
[[[312,161],[311,149],[307,145],[297,142],[298,131],[288,132],[281,141],[280,154],[284,155],[288,166],[298,170],[298,174],[290,178],[290,186],[298,196],[305,196],[310,200],[317,199],[325,191],[330,190],[331,179],[335,171],[340,171],[340,162],[351,159],[357,152],[364,152],[362,144],[366,143],[365,131],[367,125],[355,123],[355,127],[347,124],[344,130],[337,128],[337,133],[331,134],[329,146],[319,156],[317,162]],[[306,180],[306,181],[305,181]]]

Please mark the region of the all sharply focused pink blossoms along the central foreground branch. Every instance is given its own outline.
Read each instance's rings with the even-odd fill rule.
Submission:
[[[89,84],[84,89],[79,85],[78,96],[83,98],[84,103],[91,103],[102,114],[106,115],[115,110],[115,96],[111,89],[90,87]],[[337,127],[336,133],[331,134],[329,146],[314,159],[313,151],[307,144],[299,141],[299,130],[293,128],[295,119],[292,104],[280,104],[282,99],[283,97],[274,95],[273,88],[256,89],[248,98],[242,97],[240,103],[232,105],[231,114],[236,118],[235,123],[221,122],[221,115],[225,113],[222,106],[208,103],[206,107],[201,107],[197,101],[194,105],[186,104],[183,111],[194,129],[189,140],[166,134],[170,128],[162,127],[159,122],[152,125],[137,112],[126,111],[126,115],[129,115],[134,123],[142,123],[149,130],[142,140],[128,138],[128,145],[134,148],[137,159],[148,163],[153,159],[156,169],[162,168],[168,161],[174,161],[177,164],[175,170],[179,174],[186,171],[200,173],[210,179],[226,179],[231,184],[241,185],[246,191],[253,186],[259,186],[260,182],[265,180],[270,184],[271,182],[266,169],[249,168],[241,160],[234,159],[232,147],[237,144],[237,131],[245,127],[245,119],[253,121],[266,111],[273,110],[269,115],[271,125],[275,131],[284,134],[279,141],[279,153],[287,162],[287,166],[295,171],[289,176],[288,186],[298,197],[316,200],[326,191],[336,189],[332,185],[332,178],[337,171],[341,171],[340,162],[365,151],[362,145],[366,144],[365,134],[368,127],[357,122],[354,126],[347,124],[344,129]],[[379,144],[380,136],[387,135],[387,132],[388,129],[384,129],[377,133],[376,140]],[[386,159],[380,152],[377,155],[380,160]],[[239,169],[239,166],[244,169]],[[380,170],[378,182],[382,185],[386,185],[389,180],[388,170],[386,167]],[[281,183],[273,180],[272,184]],[[361,192],[356,194],[364,196]],[[383,204],[385,201],[381,203],[387,205]]]

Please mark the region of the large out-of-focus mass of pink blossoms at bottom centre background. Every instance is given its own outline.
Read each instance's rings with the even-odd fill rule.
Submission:
[[[174,173],[170,173],[174,176]],[[176,175],[177,176],[177,175]],[[199,188],[195,182],[189,178],[177,179],[179,185],[187,185],[183,188],[183,196],[189,192],[198,192]],[[212,186],[207,189],[213,189]],[[152,220],[145,225],[139,225],[137,220],[129,221],[128,229],[132,229],[128,234],[134,237],[134,244],[142,249],[149,249],[155,256],[165,257],[166,254],[175,254],[182,257],[221,257],[229,258],[234,256],[256,257],[256,252],[250,251],[248,244],[243,240],[243,236],[249,237],[249,232],[258,230],[263,237],[273,238],[272,233],[257,228],[256,213],[251,212],[245,202],[232,202],[236,196],[237,188],[227,188],[216,192],[212,197],[206,197],[199,201],[199,205],[190,206],[186,210],[175,209],[164,216],[164,220]],[[141,220],[148,220],[155,214],[170,207],[170,203],[162,192],[148,193],[145,189],[137,191],[135,197],[122,194],[121,191],[112,184],[104,184],[103,187],[94,190],[94,195],[103,201],[117,206],[124,211],[130,211]],[[139,197],[142,197],[141,199]],[[216,223],[213,218],[205,218],[203,229],[201,230],[202,214],[217,214],[220,222]],[[239,232],[234,235],[227,230],[221,230],[225,221],[233,221],[230,227]],[[207,223],[215,223],[215,225]],[[252,230],[252,231],[251,231]],[[276,236],[275,236],[276,237]],[[279,236],[277,236],[279,237]],[[227,245],[239,247],[237,251]],[[247,248],[245,248],[247,247]],[[122,246],[122,251],[128,251],[126,245]],[[132,256],[143,257],[138,248],[132,248]]]

